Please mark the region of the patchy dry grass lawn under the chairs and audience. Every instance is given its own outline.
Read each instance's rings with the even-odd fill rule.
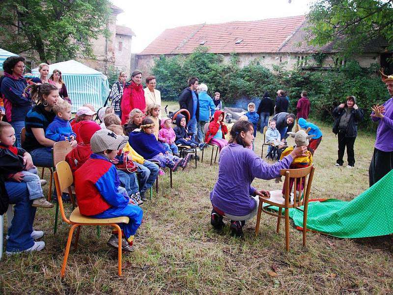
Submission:
[[[165,107],[166,102],[162,103]],[[170,103],[170,110],[177,104]],[[163,111],[164,114],[164,111]],[[319,124],[318,122],[316,122]],[[368,188],[368,166],[375,135],[359,133],[354,169],[337,168],[337,139],[329,125],[319,124],[321,145],[314,154],[315,175],[311,199],[352,200]],[[262,136],[256,137],[260,155]],[[291,143],[290,139],[290,143]],[[59,223],[53,234],[54,209],[38,209],[34,228],[44,230],[46,247],[34,254],[3,256],[0,294],[388,294],[393,290],[393,236],[338,239],[290,229],[291,249],[285,252],[283,222],[276,234],[276,219],[262,214],[259,236],[255,219],[246,223],[245,238],[229,236],[210,226],[209,193],[218,165],[198,162],[160,177],[159,195],[142,205],[144,223],[133,253],[123,253],[123,276],[117,277],[117,251],[106,242],[110,229],[83,227],[79,247],[71,248],[66,276],[60,279],[69,226]],[[264,151],[265,152],[265,151]],[[346,157],[346,156],[345,156]],[[345,158],[344,158],[345,159]],[[346,163],[344,164],[346,165]],[[255,179],[268,190],[282,183]],[[47,188],[46,188],[47,189]],[[70,207],[68,213],[70,213]],[[6,227],[5,227],[6,230]]]

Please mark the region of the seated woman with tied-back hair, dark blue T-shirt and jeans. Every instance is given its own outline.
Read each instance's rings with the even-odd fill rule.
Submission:
[[[31,154],[34,165],[52,167],[52,152],[47,147],[53,147],[55,141],[46,138],[45,131],[55,118],[52,108],[58,99],[58,89],[49,83],[33,84],[27,89],[30,89],[35,106],[26,115],[26,141],[23,148]],[[73,141],[71,145],[76,144]]]

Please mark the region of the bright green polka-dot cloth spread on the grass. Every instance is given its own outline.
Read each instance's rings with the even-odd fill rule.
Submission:
[[[393,233],[393,170],[350,202],[329,199],[310,202],[307,229],[340,238],[384,236]],[[289,216],[303,228],[303,212]]]

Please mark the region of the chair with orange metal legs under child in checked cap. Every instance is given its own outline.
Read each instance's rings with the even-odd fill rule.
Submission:
[[[92,218],[82,215],[79,211],[79,207],[76,207],[72,211],[68,219],[65,216],[63,202],[61,200],[61,195],[62,195],[61,192],[64,191],[65,189],[68,189],[68,193],[72,195],[71,185],[74,181],[71,173],[71,168],[67,162],[61,161],[57,163],[54,177],[55,177],[57,201],[60,207],[61,217],[63,218],[64,222],[71,225],[71,229],[68,234],[67,245],[65,247],[63,265],[61,266],[61,271],[60,271],[61,277],[64,277],[65,274],[65,267],[67,265],[67,259],[68,259],[68,254],[70,252],[71,240],[74,230],[76,228],[78,229],[77,234],[75,236],[75,248],[77,248],[81,226],[83,225],[112,226],[117,230],[118,238],[119,238],[119,244],[117,248],[117,259],[118,259],[117,273],[119,276],[121,276],[121,240],[122,239],[121,239],[121,229],[117,223],[128,223],[129,218],[126,216],[115,217],[115,218],[103,218],[103,219]]]

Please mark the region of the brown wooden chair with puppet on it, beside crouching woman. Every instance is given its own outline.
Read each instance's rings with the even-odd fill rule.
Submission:
[[[315,168],[313,165],[301,168],[301,169],[282,169],[280,174],[285,176],[284,187],[285,187],[285,199],[282,198],[281,190],[275,190],[270,192],[270,198],[259,197],[258,213],[256,217],[255,235],[259,233],[259,223],[261,219],[261,212],[265,212],[269,215],[278,217],[277,219],[277,233],[280,230],[281,218],[285,219],[285,249],[289,251],[289,208],[296,208],[303,211],[303,246],[306,246],[306,235],[307,235],[307,210],[309,205],[309,194],[311,189],[312,177],[314,176]],[[289,191],[289,181],[293,179],[293,193]],[[299,186],[299,191],[297,190],[297,184],[302,183],[304,179],[304,187]],[[294,200],[294,196],[303,196],[303,198],[298,197]],[[291,196],[289,198],[289,196]],[[263,207],[263,203],[268,203],[269,205]],[[279,207],[279,212],[275,213],[273,211],[267,210],[269,207],[276,206]],[[303,209],[299,207],[304,206]],[[281,208],[285,209],[284,216],[282,216]]]

